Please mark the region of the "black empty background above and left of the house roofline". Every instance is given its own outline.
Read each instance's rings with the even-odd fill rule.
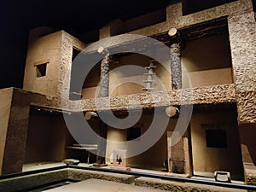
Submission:
[[[22,87],[26,42],[30,29],[49,26],[83,35],[111,20],[129,20],[177,0],[9,0],[1,3],[0,89]],[[214,4],[234,0],[183,0],[183,13],[192,13]],[[207,3],[206,3],[207,2]]]

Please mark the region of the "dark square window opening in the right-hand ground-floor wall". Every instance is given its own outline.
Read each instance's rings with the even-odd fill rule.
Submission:
[[[225,130],[206,130],[207,148],[227,148]]]

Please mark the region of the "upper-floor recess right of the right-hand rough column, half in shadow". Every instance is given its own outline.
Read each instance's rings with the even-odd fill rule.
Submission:
[[[232,84],[228,34],[187,42],[182,52],[182,66],[183,88]]]

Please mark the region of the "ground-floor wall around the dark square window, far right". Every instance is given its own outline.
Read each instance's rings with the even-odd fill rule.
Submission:
[[[216,125],[226,131],[227,148],[207,148],[206,128],[203,127],[206,124]],[[230,172],[232,178],[242,179],[236,112],[218,110],[194,113],[190,125],[194,173],[213,176],[215,171],[225,171]]]

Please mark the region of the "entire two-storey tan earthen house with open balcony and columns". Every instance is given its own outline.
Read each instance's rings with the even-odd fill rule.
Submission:
[[[106,163],[110,163],[114,149],[125,149],[125,144],[118,142],[130,141],[148,130],[154,108],[165,111],[170,106],[193,106],[186,131],[173,146],[170,140],[179,114],[176,111],[169,118],[160,113],[168,118],[164,134],[142,154],[129,157],[129,166],[159,169],[167,160],[166,172],[176,176],[213,177],[213,172],[223,171],[230,172],[232,179],[256,183],[253,2],[237,0],[185,15],[182,3],[174,1],[165,13],[165,20],[139,29],[132,26],[140,18],[115,20],[99,30],[99,40],[93,44],[64,31],[51,32],[46,27],[32,30],[23,89],[0,90],[0,174],[22,172],[22,166],[28,163],[61,162],[67,158],[95,163],[95,155],[91,154],[87,161],[83,151],[68,146],[99,145],[99,141],[76,141],[63,114],[75,119],[76,115],[95,114],[100,109],[112,110],[115,117],[125,119],[129,115],[127,108],[131,114],[137,113],[130,103],[135,100],[143,112],[137,123],[127,129],[107,127],[93,115],[87,119],[93,130],[108,139],[102,152],[106,153]],[[153,20],[154,13],[145,18]],[[127,38],[124,34],[140,38]],[[145,37],[166,44],[171,58],[160,64],[154,55],[140,54],[150,49]],[[110,55],[104,57],[98,53],[99,48],[107,49]],[[81,69],[75,66],[77,55],[100,58],[80,88],[74,85],[81,75]],[[127,65],[148,67],[146,71],[152,69],[154,73],[119,70]],[[163,86],[147,79],[149,76],[160,80]],[[107,82],[101,82],[102,77],[107,77]],[[96,89],[98,85],[100,90]],[[110,106],[106,104],[109,100]],[[101,107],[96,103],[102,103]]]

